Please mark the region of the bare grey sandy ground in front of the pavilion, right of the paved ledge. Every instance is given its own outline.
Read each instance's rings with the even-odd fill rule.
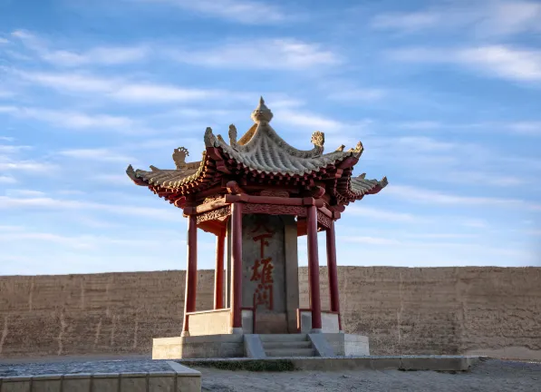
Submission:
[[[252,373],[197,368],[203,391],[541,392],[541,363],[489,359],[460,374],[358,370]]]

